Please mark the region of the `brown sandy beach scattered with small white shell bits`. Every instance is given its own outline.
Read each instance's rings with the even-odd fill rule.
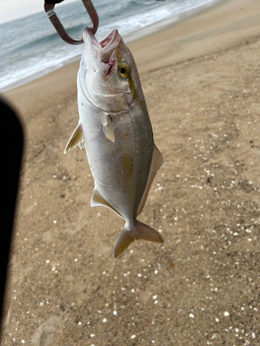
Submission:
[[[128,44],[166,165],[123,220],[91,208],[78,62],[4,94],[24,158],[1,345],[260,345],[260,1],[227,0]]]

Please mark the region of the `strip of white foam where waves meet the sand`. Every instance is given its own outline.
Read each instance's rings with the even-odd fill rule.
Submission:
[[[140,39],[144,39],[145,37],[148,37],[150,35],[158,33],[159,31],[165,30],[166,28],[172,26],[173,24],[177,23],[178,21],[184,21],[186,19],[189,19],[193,16],[198,15],[200,12],[203,12],[204,10],[207,10],[208,8],[217,6],[218,3],[221,3],[223,1],[228,1],[228,0],[212,0],[209,3],[205,3],[201,6],[196,7],[196,8],[192,8],[191,10],[187,10],[185,12],[182,12],[180,15],[174,15],[172,17],[162,19],[162,20],[157,21],[153,24],[145,26],[144,28],[140,28],[138,30],[132,31],[132,33],[128,33],[127,35],[123,35],[123,40],[124,40],[125,44],[130,44],[132,42],[139,41]],[[58,69],[62,69],[62,68],[69,66],[71,64],[78,63],[78,62],[80,62],[80,57],[81,57],[81,55],[76,55],[75,57],[72,57],[71,59],[66,60],[60,66],[58,66],[58,65],[53,66],[53,68],[48,69],[48,71],[40,71],[40,72],[37,72],[37,73],[30,75],[26,78],[23,78],[22,80],[19,80],[17,82],[13,82],[12,84],[9,84],[8,86],[3,87],[0,91],[0,95],[3,93],[6,93],[12,89],[16,89],[19,86],[23,86],[24,84],[30,83],[33,80],[37,80],[38,78],[41,78],[44,75],[48,75],[49,73],[53,73],[54,71],[57,71]]]

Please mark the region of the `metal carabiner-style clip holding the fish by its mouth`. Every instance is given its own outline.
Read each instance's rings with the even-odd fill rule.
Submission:
[[[92,33],[94,35],[96,33],[96,30],[98,30],[98,14],[94,8],[92,0],[82,0],[82,1],[87,10],[87,13],[89,14],[90,19],[92,20]],[[63,39],[63,41],[67,42],[68,44],[83,44],[83,37],[81,37],[81,39],[73,39],[73,37],[69,36],[67,31],[64,29],[64,26],[61,24],[60,19],[56,15],[54,11],[54,6],[55,6],[55,3],[45,2],[44,10],[47,13],[57,33]]]

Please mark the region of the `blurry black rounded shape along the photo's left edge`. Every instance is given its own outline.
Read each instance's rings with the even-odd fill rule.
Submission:
[[[0,100],[0,114],[1,120],[3,120],[3,126],[1,127],[1,167],[3,172],[1,181],[1,209],[3,210],[3,217],[1,221],[3,222],[0,233],[0,311],[2,315],[24,138],[17,114],[3,99]]]

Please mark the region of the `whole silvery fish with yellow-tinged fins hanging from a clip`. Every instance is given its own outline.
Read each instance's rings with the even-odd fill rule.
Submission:
[[[118,30],[98,42],[91,28],[84,29],[77,87],[79,121],[64,154],[85,148],[94,178],[91,206],[110,208],[125,220],[114,258],[136,239],[164,242],[137,220],[165,161],[153,140],[137,65]]]

